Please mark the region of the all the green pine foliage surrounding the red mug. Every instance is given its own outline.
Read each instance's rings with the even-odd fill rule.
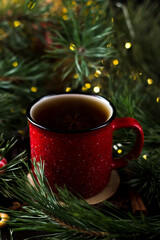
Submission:
[[[149,0],[141,5],[126,2],[64,0],[57,11],[55,1],[0,0],[0,132],[12,139],[24,130],[27,104],[44,93],[61,92],[67,86],[81,91],[89,82],[91,87],[85,91],[92,94],[99,86],[99,94],[115,104],[118,117],[135,117],[143,127],[142,155],[147,159],[129,163],[129,186],[142,194],[149,208],[159,207],[158,5]],[[131,48],[125,48],[126,42],[131,42]],[[32,92],[32,86],[38,91]],[[114,141],[128,152],[134,134],[117,131]],[[13,143],[1,139],[0,154],[5,156]],[[23,158],[20,154],[9,162],[0,178],[2,195],[27,203],[23,214],[9,211],[14,230],[41,230],[44,239],[57,240],[160,237],[159,215],[135,218],[108,202],[105,210],[97,209],[66,189],[59,189],[60,200],[50,191],[43,166],[37,172],[40,184],[30,172],[36,188],[31,186],[21,171]]]

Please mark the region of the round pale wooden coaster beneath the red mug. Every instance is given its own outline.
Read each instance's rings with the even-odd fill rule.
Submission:
[[[35,186],[31,175],[28,174],[27,177],[31,185]],[[116,170],[112,170],[109,182],[107,183],[105,188],[95,196],[85,199],[86,202],[90,205],[94,205],[107,200],[117,191],[119,184],[120,184],[120,177]]]

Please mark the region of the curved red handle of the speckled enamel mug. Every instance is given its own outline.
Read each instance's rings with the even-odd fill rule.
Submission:
[[[125,167],[128,160],[135,159],[140,155],[144,143],[144,134],[139,122],[136,119],[130,117],[114,119],[112,123],[112,128],[113,131],[120,128],[133,128],[137,134],[135,145],[131,149],[131,151],[123,157],[112,159],[111,167],[112,169],[116,169]]]

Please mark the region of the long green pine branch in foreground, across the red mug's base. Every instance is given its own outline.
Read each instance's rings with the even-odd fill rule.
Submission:
[[[32,226],[33,230],[47,232],[45,239],[150,239],[152,234],[159,236],[159,216],[152,219],[135,218],[127,213],[116,215],[120,213],[118,209],[107,202],[104,214],[85,200],[77,199],[67,189],[59,189],[59,196],[55,195],[44,176],[44,165],[34,167],[37,180],[30,171],[34,186],[24,173],[17,177],[18,185],[14,191],[6,182],[7,190],[27,204],[24,212],[7,210],[13,229],[25,230]]]

